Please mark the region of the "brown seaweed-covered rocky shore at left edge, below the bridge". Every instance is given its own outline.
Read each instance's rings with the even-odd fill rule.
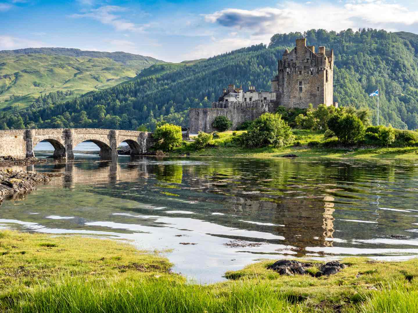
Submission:
[[[13,168],[0,169],[0,204],[6,195],[32,191],[36,185],[51,181],[50,175]]]

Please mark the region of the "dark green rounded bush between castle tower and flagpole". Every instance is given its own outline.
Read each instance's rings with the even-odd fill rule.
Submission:
[[[328,128],[337,136],[344,145],[358,143],[364,137],[364,126],[362,121],[354,114],[333,115],[328,120]]]

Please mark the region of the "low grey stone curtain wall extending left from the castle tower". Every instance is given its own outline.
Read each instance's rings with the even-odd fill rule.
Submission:
[[[226,106],[227,108],[222,108]],[[224,115],[232,121],[231,130],[247,120],[255,120],[263,113],[275,112],[278,103],[275,101],[212,103],[212,108],[190,109],[190,133],[212,133],[216,131],[212,123],[217,116]]]

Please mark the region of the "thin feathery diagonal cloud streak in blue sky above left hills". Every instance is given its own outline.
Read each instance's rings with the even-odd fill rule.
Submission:
[[[72,14],[70,15],[72,18],[91,18],[93,20],[97,20],[102,24],[111,25],[116,30],[120,31],[134,31],[134,32],[142,32],[148,25],[136,25],[128,20],[121,18],[120,15],[115,13],[122,13],[126,11],[125,8],[122,8],[117,5],[106,5],[102,6],[97,9],[90,9],[87,13],[83,14]]]

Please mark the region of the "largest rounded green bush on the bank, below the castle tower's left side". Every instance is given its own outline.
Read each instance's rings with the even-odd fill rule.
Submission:
[[[283,147],[294,139],[291,128],[277,113],[264,113],[240,137],[247,148]]]

